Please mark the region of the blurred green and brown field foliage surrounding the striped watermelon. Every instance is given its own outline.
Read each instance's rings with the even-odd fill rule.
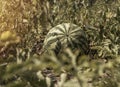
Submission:
[[[0,0],[0,20],[0,87],[120,87],[120,0]],[[38,55],[61,23],[86,33],[87,55]]]

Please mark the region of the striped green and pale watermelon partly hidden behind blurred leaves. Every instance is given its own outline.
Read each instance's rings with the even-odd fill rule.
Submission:
[[[56,50],[56,47],[79,48],[85,52],[88,49],[88,42],[81,27],[72,23],[62,23],[48,32],[43,44],[43,50]]]

